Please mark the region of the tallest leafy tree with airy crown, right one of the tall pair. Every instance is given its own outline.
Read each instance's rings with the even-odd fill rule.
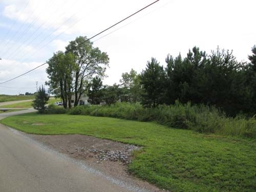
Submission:
[[[79,45],[79,46],[78,46]],[[89,89],[89,82],[95,75],[104,77],[106,67],[109,66],[109,56],[93,47],[93,42],[86,36],[79,36],[70,41],[66,47],[75,58],[75,70],[73,79],[74,106],[78,105],[80,97]]]

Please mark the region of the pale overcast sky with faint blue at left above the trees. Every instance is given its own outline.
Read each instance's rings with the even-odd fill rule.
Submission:
[[[152,2],[0,0],[0,82],[41,65],[77,36],[89,38]],[[140,73],[151,57],[165,66],[168,53],[184,57],[194,46],[207,53],[219,46],[248,61],[256,45],[255,7],[255,0],[160,0],[92,39],[110,57],[104,84],[118,83],[132,68]],[[36,82],[47,80],[46,67],[0,84],[0,94],[34,93]]]

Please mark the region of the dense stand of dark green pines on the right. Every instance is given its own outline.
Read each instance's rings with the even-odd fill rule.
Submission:
[[[205,52],[194,47],[185,58],[167,55],[163,68],[155,58],[141,73],[145,106],[190,101],[215,105],[228,115],[256,111],[256,47],[248,57],[250,63],[238,62],[232,52]]]

